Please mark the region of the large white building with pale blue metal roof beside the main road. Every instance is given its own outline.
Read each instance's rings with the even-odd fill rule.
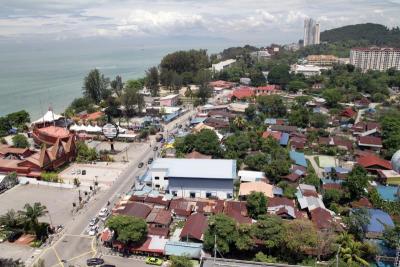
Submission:
[[[177,197],[233,197],[236,160],[158,158],[150,167],[154,189]]]

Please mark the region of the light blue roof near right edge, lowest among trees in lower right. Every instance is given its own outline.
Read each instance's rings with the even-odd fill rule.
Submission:
[[[366,236],[376,238],[385,231],[385,226],[394,227],[394,223],[389,214],[379,209],[368,209],[370,216],[369,224],[364,225]]]

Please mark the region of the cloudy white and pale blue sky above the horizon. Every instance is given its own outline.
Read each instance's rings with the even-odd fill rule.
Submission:
[[[312,17],[321,30],[400,25],[400,0],[0,0],[0,39],[149,37],[289,43]]]

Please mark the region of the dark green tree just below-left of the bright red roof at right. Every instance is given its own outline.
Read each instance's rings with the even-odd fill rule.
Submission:
[[[350,198],[356,200],[367,194],[366,189],[368,187],[368,182],[367,171],[360,165],[356,165],[349,173],[343,186],[350,193]]]

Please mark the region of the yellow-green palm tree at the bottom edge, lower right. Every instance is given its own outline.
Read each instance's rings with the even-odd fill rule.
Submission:
[[[361,242],[355,241],[352,235],[342,233],[339,236],[338,243],[341,245],[339,254],[348,266],[358,266],[359,264],[369,266],[369,263],[361,258]]]

